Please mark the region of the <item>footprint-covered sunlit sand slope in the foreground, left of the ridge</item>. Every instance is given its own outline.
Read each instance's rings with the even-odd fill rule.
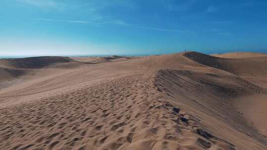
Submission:
[[[166,103],[150,78],[127,76],[22,104],[16,107],[15,114],[5,108],[1,110],[1,120],[16,119],[17,123],[1,124],[1,147],[11,150],[210,148],[211,143],[205,138],[194,137],[199,136],[194,132],[197,125],[187,119],[185,112]],[[99,92],[103,89],[105,92]],[[10,143],[16,146],[9,146]]]

